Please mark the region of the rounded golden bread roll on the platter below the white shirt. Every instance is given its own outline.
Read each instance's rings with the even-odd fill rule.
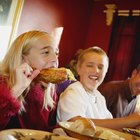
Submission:
[[[94,136],[96,127],[95,124],[87,118],[79,118],[70,126],[70,130],[87,135]]]

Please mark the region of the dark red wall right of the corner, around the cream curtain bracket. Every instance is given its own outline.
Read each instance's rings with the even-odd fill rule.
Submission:
[[[99,0],[94,2],[92,7],[92,18],[90,21],[89,32],[87,35],[86,47],[98,45],[105,51],[108,50],[112,24],[106,25],[105,4],[116,4],[117,10],[140,10],[139,0]]]

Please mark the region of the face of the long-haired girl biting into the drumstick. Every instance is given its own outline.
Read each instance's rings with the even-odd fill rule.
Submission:
[[[23,60],[32,68],[39,70],[44,68],[58,67],[58,48],[55,42],[48,36],[43,36],[32,43],[32,47]]]

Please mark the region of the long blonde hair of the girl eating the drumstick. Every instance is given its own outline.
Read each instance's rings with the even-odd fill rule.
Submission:
[[[44,31],[29,31],[21,34],[17,39],[13,42],[11,47],[9,48],[4,60],[0,65],[0,74],[8,77],[8,85],[12,87],[15,82],[14,70],[16,67],[21,65],[23,60],[23,55],[28,54],[29,50],[33,47],[33,43],[39,40],[41,37],[46,36],[48,41],[54,41],[54,38]],[[43,107],[51,109],[54,107],[54,101],[52,99],[52,93],[50,89],[53,89],[54,85],[49,84],[47,89],[45,90],[44,95],[44,103]],[[28,89],[29,91],[29,89]],[[23,105],[24,97],[20,97],[21,104]],[[22,107],[24,108],[24,107]]]

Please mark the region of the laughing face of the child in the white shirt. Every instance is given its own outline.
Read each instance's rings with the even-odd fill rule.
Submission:
[[[93,91],[102,83],[108,69],[107,57],[95,52],[84,54],[77,67],[80,82],[87,91]]]

